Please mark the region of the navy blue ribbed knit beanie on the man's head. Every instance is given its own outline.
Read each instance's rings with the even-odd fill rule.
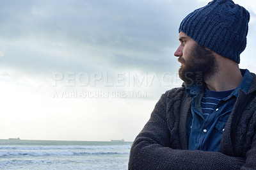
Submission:
[[[246,47],[250,13],[231,0],[213,0],[189,13],[179,32],[186,33],[200,45],[240,63]]]

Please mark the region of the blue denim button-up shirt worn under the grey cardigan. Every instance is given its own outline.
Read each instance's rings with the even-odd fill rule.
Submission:
[[[192,115],[188,118],[187,135],[189,138],[189,150],[218,151],[222,134],[225,130],[230,112],[232,111],[239,89],[245,93],[252,83],[252,75],[248,70],[241,70],[243,79],[228,97],[223,98],[216,105],[214,111],[206,118],[202,114],[200,101],[204,96],[204,89],[199,86],[189,86],[186,93],[193,97],[191,104]]]

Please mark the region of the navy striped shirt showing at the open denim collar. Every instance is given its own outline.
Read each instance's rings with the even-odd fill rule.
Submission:
[[[210,91],[209,89],[206,89],[204,97],[201,100],[201,107],[204,118],[211,114],[211,112],[215,110],[215,107],[218,105],[220,100],[228,97],[232,91],[233,89],[228,91]]]

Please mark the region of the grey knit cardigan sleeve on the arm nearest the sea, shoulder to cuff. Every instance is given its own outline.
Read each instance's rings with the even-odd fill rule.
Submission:
[[[134,140],[129,169],[240,169],[243,158],[220,152],[172,149],[166,122],[166,98],[162,95],[150,120]]]

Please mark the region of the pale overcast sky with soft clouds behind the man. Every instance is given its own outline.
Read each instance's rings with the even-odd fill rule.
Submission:
[[[181,20],[205,0],[0,1],[0,139],[133,141],[179,87]],[[256,72],[256,1],[241,68]]]

